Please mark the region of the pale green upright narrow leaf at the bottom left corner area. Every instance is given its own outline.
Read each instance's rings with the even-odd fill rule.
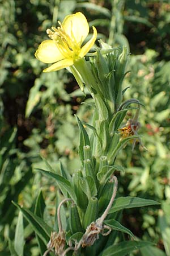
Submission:
[[[19,212],[18,222],[15,229],[14,248],[19,256],[24,255],[24,225],[23,225],[23,214]]]

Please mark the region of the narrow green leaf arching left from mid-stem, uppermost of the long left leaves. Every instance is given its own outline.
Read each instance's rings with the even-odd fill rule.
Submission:
[[[62,177],[58,174],[54,174],[53,172],[45,171],[42,169],[36,169],[36,170],[42,172],[42,174],[45,174],[46,176],[56,179],[59,187],[66,189],[66,191],[69,193],[70,197],[76,202],[75,192],[74,192],[74,189],[69,180],[66,180],[64,177]]]

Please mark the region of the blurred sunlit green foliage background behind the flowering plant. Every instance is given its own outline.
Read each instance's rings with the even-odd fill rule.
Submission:
[[[42,73],[46,64],[34,56],[48,39],[46,29],[76,11],[97,28],[98,39],[113,47],[126,45],[131,53],[125,99],[145,104],[139,133],[147,151],[137,144],[132,152],[129,144],[118,156],[124,167],[117,172],[119,194],[154,199],[162,209],[126,210],[122,222],[156,245],[151,254],[142,249],[138,255],[169,256],[170,2],[156,0],[0,0],[0,255],[11,255],[8,238],[16,242],[18,212],[11,200],[33,209],[41,188],[46,221],[53,220],[56,185],[34,170],[44,167],[41,156],[56,171],[59,159],[70,173],[80,167],[74,114],[90,122],[92,109],[81,103],[91,98],[83,96],[66,70]],[[26,221],[24,228],[24,255],[40,255]]]

